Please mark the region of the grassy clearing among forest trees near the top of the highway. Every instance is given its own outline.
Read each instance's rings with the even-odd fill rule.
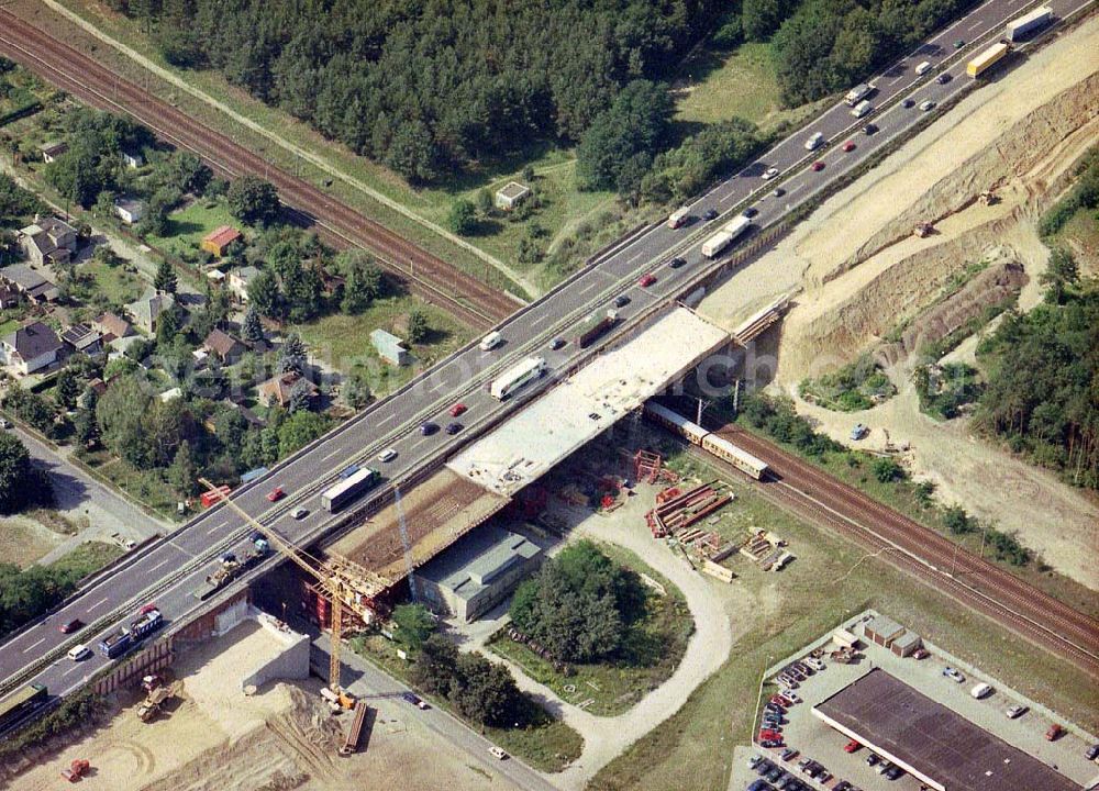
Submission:
[[[735,115],[768,130],[784,121],[796,123],[815,109],[782,107],[766,43],[748,42],[732,52],[700,47],[679,68],[676,87],[676,118],[685,122],[715,123]]]

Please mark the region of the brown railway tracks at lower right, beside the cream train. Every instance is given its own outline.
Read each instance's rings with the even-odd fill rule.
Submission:
[[[961,604],[1099,678],[1099,623],[1094,619],[753,434],[730,426],[715,433],[767,463],[773,474],[758,486],[775,504],[853,538]],[[710,465],[735,471],[700,447],[691,445],[690,452]]]

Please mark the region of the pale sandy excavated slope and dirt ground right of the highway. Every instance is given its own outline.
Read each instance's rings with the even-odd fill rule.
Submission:
[[[703,300],[700,312],[731,330],[778,294],[801,289],[780,328],[754,349],[756,368],[791,390],[877,346],[899,321],[933,303],[952,274],[981,258],[1021,263],[1029,281],[1019,303],[1032,308],[1048,255],[1036,219],[1063,190],[1072,164],[1099,140],[1097,52],[1092,16],[826,201],[776,250]],[[990,188],[1000,202],[976,202]],[[934,221],[937,233],[915,238],[918,220]],[[856,421],[875,430],[872,444],[884,444],[881,430],[910,442],[912,471],[934,480],[944,502],[962,502],[1017,531],[1047,562],[1099,589],[1087,560],[1099,508],[1054,476],[972,438],[964,422],[920,414],[909,392],[910,365],[890,370],[901,394],[875,410],[799,408],[841,442]]]

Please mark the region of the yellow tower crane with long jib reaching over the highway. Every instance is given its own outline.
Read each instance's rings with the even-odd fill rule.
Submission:
[[[374,620],[374,612],[364,604],[370,601],[378,593],[384,591],[388,583],[386,580],[373,571],[368,571],[356,562],[344,557],[332,557],[329,560],[320,560],[290,541],[284,538],[273,528],[260,524],[251,516],[244,509],[222,494],[218,488],[206,478],[200,478],[208,490],[218,494],[230,509],[244,520],[247,524],[258,531],[280,555],[292,560],[298,568],[306,571],[319,583],[318,593],[323,591],[324,598],[332,603],[332,648],[329,651],[329,688],[337,695],[343,697],[340,687],[340,644],[343,633],[343,609],[346,606],[364,623]]]

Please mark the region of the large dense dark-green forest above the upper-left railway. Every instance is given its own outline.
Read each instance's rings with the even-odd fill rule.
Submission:
[[[111,0],[165,57],[212,66],[412,181],[532,138],[578,141],[659,78],[719,0]]]

